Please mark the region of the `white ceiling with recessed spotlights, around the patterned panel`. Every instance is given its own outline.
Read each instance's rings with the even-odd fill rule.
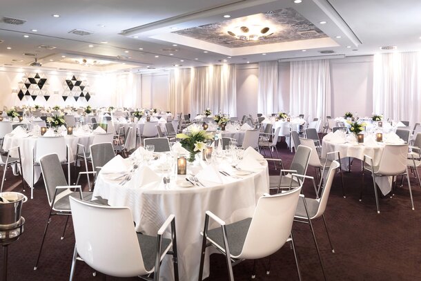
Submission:
[[[34,57],[25,53],[37,54],[44,68],[104,72],[168,69],[175,64],[204,66],[218,64],[222,59],[244,64],[325,56],[321,50],[345,56],[384,52],[380,46],[397,46],[400,52],[421,50],[421,1],[417,0],[1,0],[0,6],[0,18],[26,20],[19,26],[0,22],[0,66],[28,66]],[[224,21],[224,14],[236,19],[282,8],[293,8],[328,37],[324,41],[302,40],[233,50],[173,33]],[[74,29],[93,34],[68,33]],[[177,46],[173,46],[175,43]],[[57,48],[46,50],[40,45]],[[176,50],[163,50],[168,48]],[[82,58],[114,63],[90,67],[72,63]]]

